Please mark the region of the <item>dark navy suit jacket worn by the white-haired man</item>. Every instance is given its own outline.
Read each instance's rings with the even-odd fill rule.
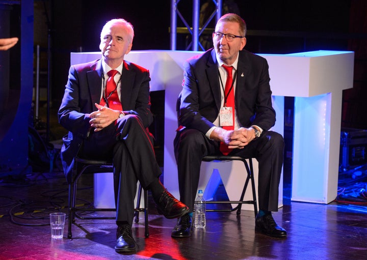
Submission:
[[[83,142],[88,138],[90,124],[88,114],[96,111],[94,103],[100,102],[102,86],[102,61],[73,65],[69,69],[68,82],[59,109],[59,123],[69,133],[61,149],[61,158],[70,182],[74,158]],[[133,63],[123,62],[121,75],[121,104],[125,114],[139,115],[144,127],[153,117],[150,111],[149,71]]]

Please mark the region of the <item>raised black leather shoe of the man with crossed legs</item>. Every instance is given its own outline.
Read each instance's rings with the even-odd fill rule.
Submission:
[[[159,198],[154,198],[154,202],[159,213],[163,214],[166,218],[177,218],[189,212],[189,208],[172,196],[167,189]]]

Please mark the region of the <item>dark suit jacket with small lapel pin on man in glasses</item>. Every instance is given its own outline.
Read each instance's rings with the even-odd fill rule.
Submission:
[[[204,134],[214,126],[221,92],[215,50],[189,59],[185,65],[178,123]],[[235,87],[235,111],[241,126],[257,125],[269,130],[275,124],[272,106],[269,66],[266,59],[242,50],[239,52]]]

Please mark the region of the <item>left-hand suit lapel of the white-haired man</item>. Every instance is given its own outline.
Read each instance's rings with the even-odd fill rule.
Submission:
[[[87,80],[89,91],[92,100],[92,110],[97,110],[94,103],[99,104],[101,97],[102,86],[102,60],[98,60],[90,67],[90,71],[87,72]]]

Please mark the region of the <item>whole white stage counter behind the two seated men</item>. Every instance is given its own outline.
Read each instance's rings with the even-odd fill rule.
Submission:
[[[165,90],[164,185],[176,197],[179,197],[173,153],[176,100],[182,88],[183,63],[198,53],[147,50],[131,51],[125,56],[125,60],[149,69],[151,91]],[[283,134],[284,96],[295,97],[292,200],[330,203],[337,192],[342,93],[353,86],[354,52],[321,50],[259,55],[269,63],[273,106],[277,113],[272,130]],[[71,64],[89,62],[100,56],[100,52],[71,53]],[[205,190],[207,199],[213,195],[220,176],[228,197],[238,200],[245,176],[243,166],[235,163],[238,162],[225,166],[203,163],[199,188]],[[257,162],[255,180],[256,165]],[[282,206],[282,184],[279,191],[279,206]],[[250,193],[246,196],[251,197]],[[243,205],[243,209],[251,209],[251,206]]]

